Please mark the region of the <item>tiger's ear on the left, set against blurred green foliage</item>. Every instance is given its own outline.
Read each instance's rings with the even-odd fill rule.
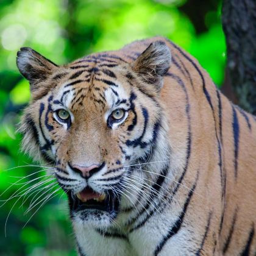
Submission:
[[[51,60],[28,47],[18,51],[16,63],[20,73],[29,80],[32,93],[40,89],[40,83],[47,80],[58,68]]]

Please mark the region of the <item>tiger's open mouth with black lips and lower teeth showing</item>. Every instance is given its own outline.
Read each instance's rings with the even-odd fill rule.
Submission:
[[[113,213],[118,211],[119,199],[112,191],[99,194],[90,187],[87,187],[77,193],[75,197],[69,196],[69,206],[74,212],[101,210],[103,212]]]

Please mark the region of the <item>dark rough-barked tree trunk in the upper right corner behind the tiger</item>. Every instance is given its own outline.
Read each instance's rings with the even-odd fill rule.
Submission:
[[[224,0],[227,72],[238,105],[256,115],[256,1]]]

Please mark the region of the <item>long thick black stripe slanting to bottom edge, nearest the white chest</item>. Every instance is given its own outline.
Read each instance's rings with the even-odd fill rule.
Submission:
[[[179,230],[182,226],[183,219],[184,219],[185,214],[187,212],[188,205],[190,204],[191,198],[192,198],[194,190],[196,188],[196,184],[197,184],[197,180],[198,180],[198,174],[199,174],[199,172],[197,171],[196,181],[195,181],[193,187],[191,188],[190,193],[188,193],[188,196],[185,200],[185,204],[183,205],[182,211],[181,211],[180,215],[178,216],[176,222],[174,223],[174,225],[172,225],[169,232],[163,237],[162,241],[160,241],[157,248],[155,249],[155,251],[154,251],[155,256],[157,256],[162,251],[163,246],[165,246],[165,244],[167,243],[169,238],[171,238],[173,235],[176,235],[179,232]]]

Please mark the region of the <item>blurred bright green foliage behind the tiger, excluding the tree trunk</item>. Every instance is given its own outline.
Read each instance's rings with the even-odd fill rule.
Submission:
[[[193,54],[221,86],[226,45],[220,17],[218,0],[0,1],[0,255],[76,255],[65,195],[52,194],[41,207],[57,186],[20,152],[15,129],[30,94],[16,68],[18,49],[29,46],[63,64],[163,35]],[[37,182],[41,187],[30,191]],[[26,214],[29,205],[34,208]]]

